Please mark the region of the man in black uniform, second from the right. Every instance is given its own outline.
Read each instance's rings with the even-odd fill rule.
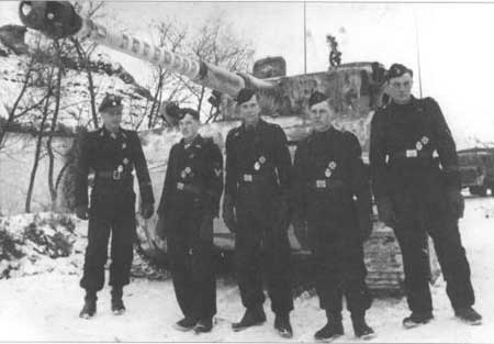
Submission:
[[[326,95],[315,91],[308,108],[313,132],[296,148],[292,195],[296,221],[307,224],[316,290],[327,315],[315,339],[344,334],[344,293],[356,336],[370,339],[374,332],[364,319],[371,298],[362,242],[372,231],[372,200],[362,149],[353,134],[333,126],[335,110]]]

